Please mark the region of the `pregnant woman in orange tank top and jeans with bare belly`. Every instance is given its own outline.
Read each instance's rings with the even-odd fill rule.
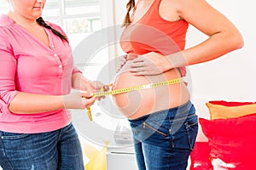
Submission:
[[[243,46],[236,26],[204,0],[129,0],[126,8],[120,45],[127,55],[113,89],[179,79],[185,66]],[[184,49],[189,24],[208,38]],[[198,122],[185,82],[113,98],[131,123],[139,170],[186,169]]]

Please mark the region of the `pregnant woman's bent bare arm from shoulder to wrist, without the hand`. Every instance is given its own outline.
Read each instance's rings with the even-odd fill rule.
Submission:
[[[205,0],[182,0],[179,14],[209,38],[182,51],[185,63],[179,63],[174,55],[170,55],[169,59],[176,67],[216,59],[243,46],[243,38],[236,26]]]

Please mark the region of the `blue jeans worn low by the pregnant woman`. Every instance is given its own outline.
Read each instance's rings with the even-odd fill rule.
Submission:
[[[129,121],[139,170],[186,169],[198,132],[190,101]]]

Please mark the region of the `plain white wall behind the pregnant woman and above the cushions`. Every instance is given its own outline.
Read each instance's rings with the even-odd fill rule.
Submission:
[[[241,31],[245,45],[230,54],[199,65],[191,65],[188,71],[192,78],[192,99],[205,113],[205,102],[213,99],[233,101],[255,101],[256,97],[256,15],[253,1],[208,0],[212,7],[225,14]],[[116,0],[116,20],[121,23],[125,15],[127,0]],[[119,23],[118,23],[119,22]],[[187,48],[205,40],[207,37],[193,26],[189,26]]]

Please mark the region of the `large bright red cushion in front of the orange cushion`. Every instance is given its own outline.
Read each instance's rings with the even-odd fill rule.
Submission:
[[[199,118],[199,122],[209,140],[212,159],[229,163],[236,170],[256,169],[256,114],[212,121]]]

